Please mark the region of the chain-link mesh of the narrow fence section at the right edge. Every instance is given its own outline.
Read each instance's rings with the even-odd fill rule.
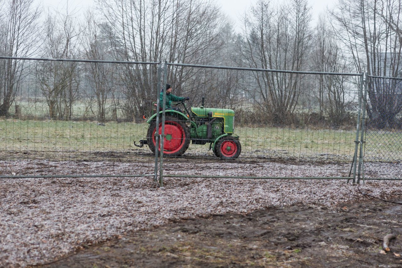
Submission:
[[[384,166],[402,160],[402,78],[367,76],[363,96],[365,176],[402,178]]]

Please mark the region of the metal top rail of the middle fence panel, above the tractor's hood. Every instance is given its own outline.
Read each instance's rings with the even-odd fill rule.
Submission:
[[[244,67],[231,67],[231,66],[199,65],[199,64],[172,63],[172,62],[167,62],[166,64],[167,65],[172,65],[172,66],[195,67],[195,68],[244,70],[244,71],[275,72],[275,73],[290,73],[290,74],[332,74],[332,75],[339,75],[339,76],[361,76],[362,75],[362,74],[355,74],[355,73],[290,71],[290,70],[274,70],[274,69],[261,69],[261,68],[244,68]]]

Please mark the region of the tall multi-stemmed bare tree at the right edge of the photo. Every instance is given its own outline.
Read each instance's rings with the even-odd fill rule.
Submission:
[[[372,76],[400,76],[402,38],[401,0],[343,1],[333,12],[334,29],[355,63],[357,72]],[[345,38],[347,37],[347,38]],[[394,127],[402,110],[396,80],[371,80],[367,112],[378,128]]]

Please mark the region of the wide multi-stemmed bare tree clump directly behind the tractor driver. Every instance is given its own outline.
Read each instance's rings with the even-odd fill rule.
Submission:
[[[207,64],[220,48],[217,42],[221,14],[203,0],[99,0],[105,19],[121,42],[123,55],[133,61]],[[156,65],[123,66],[128,114],[144,114],[155,100]],[[194,83],[202,71],[169,67],[168,81],[175,94],[197,94],[205,84]],[[193,95],[191,95],[193,96]],[[148,100],[148,102],[147,102]],[[147,108],[148,107],[148,108]]]

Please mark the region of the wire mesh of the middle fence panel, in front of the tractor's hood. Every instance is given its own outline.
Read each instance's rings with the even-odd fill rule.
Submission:
[[[191,144],[181,155],[186,159],[183,162],[200,157],[213,162],[206,162],[204,170],[193,170],[189,166],[169,168],[166,176],[349,176],[359,113],[358,74],[174,65],[200,68],[203,75],[198,82],[206,81],[200,92],[195,92],[195,98],[191,98],[188,113],[190,118],[194,117],[190,121],[195,123],[190,126]],[[237,82],[230,88],[227,84],[217,86],[218,83],[213,81],[219,77]],[[207,135],[210,126],[216,133],[211,131],[212,140],[207,137],[203,143],[203,134]],[[228,137],[220,136],[226,134]],[[236,158],[240,147],[240,156]],[[222,158],[222,155],[223,158],[236,158],[236,161],[216,164],[216,158]],[[280,171],[255,169],[252,164],[259,161],[286,162],[287,168]],[[342,171],[334,172],[325,166],[334,162],[344,163]],[[233,165],[243,166],[245,172],[236,173],[232,170]]]

